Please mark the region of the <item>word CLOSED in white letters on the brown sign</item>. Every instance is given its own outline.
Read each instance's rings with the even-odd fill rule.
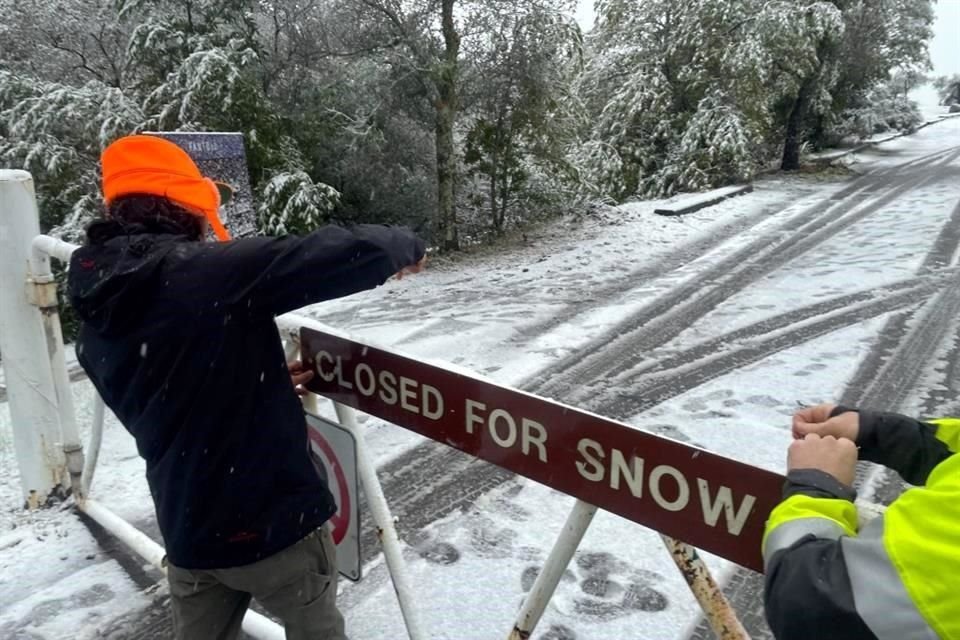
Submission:
[[[373,368],[361,362],[353,370],[353,376],[345,374],[343,360],[334,358],[326,351],[318,351],[316,357],[317,375],[326,382],[336,382],[344,389],[354,389],[360,395],[371,398],[378,396],[384,404],[390,406],[400,403],[400,408],[410,413],[420,414],[430,420],[439,420],[444,415],[443,395],[436,387],[420,384],[412,378],[397,376],[386,369],[375,372]]]

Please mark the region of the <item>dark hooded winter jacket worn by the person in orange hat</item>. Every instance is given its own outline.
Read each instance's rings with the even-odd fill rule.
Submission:
[[[93,225],[70,263],[77,357],[137,441],[170,561],[240,566],[335,511],[273,318],[382,284],[424,254],[401,228],[191,242]]]

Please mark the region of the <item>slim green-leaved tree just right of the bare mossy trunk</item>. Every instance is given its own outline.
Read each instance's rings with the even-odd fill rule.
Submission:
[[[582,58],[572,10],[567,0],[510,4],[472,21],[489,26],[464,45],[464,161],[485,183],[495,233],[532,175],[563,172],[569,86]]]

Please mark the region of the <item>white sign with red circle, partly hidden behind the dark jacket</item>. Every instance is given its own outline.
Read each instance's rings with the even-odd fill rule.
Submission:
[[[360,483],[357,442],[353,434],[326,418],[307,413],[307,434],[314,462],[337,502],[330,518],[337,545],[337,569],[345,578],[360,579]]]

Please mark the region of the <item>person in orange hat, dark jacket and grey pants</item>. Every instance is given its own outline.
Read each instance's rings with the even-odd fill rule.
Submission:
[[[177,638],[238,637],[251,598],[291,640],[346,638],[336,505],[273,318],[419,271],[423,242],[379,225],[230,240],[223,186],[154,136],[102,168],[106,215],[70,264],[77,357],[146,461]]]

